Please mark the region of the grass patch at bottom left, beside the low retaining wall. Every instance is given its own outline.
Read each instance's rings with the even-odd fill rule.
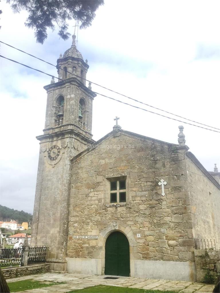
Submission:
[[[28,289],[49,287],[49,286],[58,285],[58,284],[65,284],[65,282],[62,282],[62,283],[51,282],[50,284],[45,284],[44,282],[33,281],[32,279],[29,279],[29,280],[11,282],[11,283],[8,283],[8,286],[11,292],[18,292],[18,291],[25,291]]]

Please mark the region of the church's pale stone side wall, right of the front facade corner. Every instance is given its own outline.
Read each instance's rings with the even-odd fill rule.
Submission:
[[[193,236],[215,240],[220,249],[220,190],[187,156],[186,163]]]

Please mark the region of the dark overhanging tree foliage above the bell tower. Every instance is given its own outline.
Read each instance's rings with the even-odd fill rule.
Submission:
[[[47,38],[47,28],[59,28],[58,35],[67,40],[70,33],[67,32],[67,21],[75,19],[79,21],[80,28],[86,28],[92,24],[95,11],[104,0],[7,0],[11,4],[13,12],[28,11],[25,25],[35,30],[35,38],[43,44]]]

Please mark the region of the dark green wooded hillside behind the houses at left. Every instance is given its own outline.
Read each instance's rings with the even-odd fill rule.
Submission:
[[[32,214],[28,214],[24,211],[18,211],[17,209],[10,209],[9,207],[4,207],[0,205],[0,221],[10,221],[15,220],[18,224],[22,222],[32,223]]]

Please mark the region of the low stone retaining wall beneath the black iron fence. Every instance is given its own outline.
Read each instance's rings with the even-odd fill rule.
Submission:
[[[16,278],[16,277],[23,277],[27,275],[34,275],[48,272],[50,268],[49,263],[40,263],[35,265],[27,265],[25,267],[19,268],[9,268],[9,269],[2,269],[1,271],[4,274],[6,279]]]

